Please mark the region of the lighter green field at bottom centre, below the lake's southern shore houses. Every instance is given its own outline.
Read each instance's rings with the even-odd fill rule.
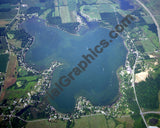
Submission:
[[[75,120],[74,128],[107,128],[107,124],[104,115],[97,115]]]

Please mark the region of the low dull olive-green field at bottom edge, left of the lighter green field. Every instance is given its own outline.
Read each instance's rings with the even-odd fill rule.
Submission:
[[[55,122],[38,121],[38,122],[30,122],[26,125],[26,128],[66,128],[66,121],[58,120]]]

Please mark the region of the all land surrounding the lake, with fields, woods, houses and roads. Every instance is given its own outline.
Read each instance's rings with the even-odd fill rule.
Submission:
[[[135,9],[123,11],[118,3],[111,0],[2,1],[0,60],[5,57],[5,61],[0,61],[3,65],[0,67],[0,126],[160,127],[159,2],[136,0],[132,4],[135,4]],[[44,102],[54,70],[63,63],[52,62],[43,71],[27,65],[25,54],[34,38],[19,29],[18,25],[38,17],[48,25],[75,34],[80,26],[87,26],[87,22],[92,21],[111,29],[127,13],[135,16],[136,22],[121,35],[128,54],[125,66],[117,70],[120,81],[118,100],[110,106],[94,106],[85,97],[78,97],[74,113],[67,114],[56,111],[47,101]]]

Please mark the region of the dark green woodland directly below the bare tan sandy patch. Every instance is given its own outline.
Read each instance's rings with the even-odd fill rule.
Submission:
[[[159,107],[158,92],[160,90],[160,67],[146,81],[136,86],[137,97],[141,107],[157,109]],[[156,76],[155,76],[156,74]]]

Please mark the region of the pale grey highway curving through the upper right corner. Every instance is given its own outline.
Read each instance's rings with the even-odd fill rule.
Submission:
[[[154,15],[150,12],[150,10],[140,1],[140,0],[136,0],[151,16],[151,18],[153,19],[156,27],[157,27],[157,32],[158,32],[158,39],[159,39],[159,43],[160,43],[160,28],[159,28],[159,24],[157,22],[157,20],[155,19]]]

